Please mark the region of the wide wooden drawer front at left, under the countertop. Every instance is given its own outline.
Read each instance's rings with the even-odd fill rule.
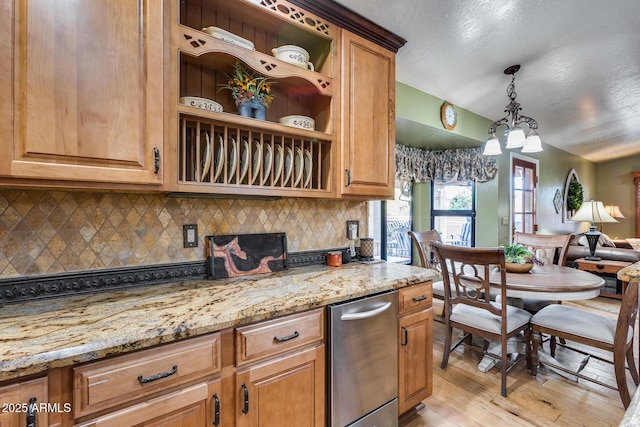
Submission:
[[[73,369],[76,418],[220,371],[220,334]]]

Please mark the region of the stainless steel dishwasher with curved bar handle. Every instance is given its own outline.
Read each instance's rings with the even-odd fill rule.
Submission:
[[[398,292],[328,310],[329,425],[397,427]]]

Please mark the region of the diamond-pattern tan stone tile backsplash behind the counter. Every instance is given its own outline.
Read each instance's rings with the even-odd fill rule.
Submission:
[[[0,277],[203,260],[211,234],[284,231],[291,252],[343,247],[354,219],[366,235],[366,202],[0,190]],[[183,248],[183,224],[198,225],[197,248]]]

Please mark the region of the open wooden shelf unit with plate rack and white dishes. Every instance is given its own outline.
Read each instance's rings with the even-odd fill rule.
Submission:
[[[177,180],[168,189],[332,197],[339,28],[284,0],[172,4],[177,160],[167,170]],[[224,87],[237,64],[270,83],[264,120],[239,115]]]

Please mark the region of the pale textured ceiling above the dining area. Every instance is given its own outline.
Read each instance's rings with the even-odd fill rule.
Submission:
[[[336,2],[407,40],[402,83],[497,120],[503,71],[521,64],[517,101],[544,143],[593,162],[640,153],[638,0]]]

